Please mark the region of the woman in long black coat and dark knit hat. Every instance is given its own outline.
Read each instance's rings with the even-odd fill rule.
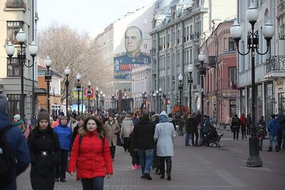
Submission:
[[[60,162],[60,147],[46,110],[38,113],[37,125],[28,136],[28,147],[31,153],[32,189],[52,190],[56,177],[56,164]]]

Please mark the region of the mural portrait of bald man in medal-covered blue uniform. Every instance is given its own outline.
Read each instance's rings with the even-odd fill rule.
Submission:
[[[137,26],[130,26],[125,31],[125,53],[114,57],[114,78],[130,79],[133,68],[150,63],[150,56],[140,51],[143,43],[142,31]]]

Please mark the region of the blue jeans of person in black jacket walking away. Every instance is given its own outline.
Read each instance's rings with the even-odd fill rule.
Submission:
[[[138,154],[140,157],[140,168],[142,169],[142,174],[150,174],[150,167],[152,166],[153,160],[153,149],[138,149]]]

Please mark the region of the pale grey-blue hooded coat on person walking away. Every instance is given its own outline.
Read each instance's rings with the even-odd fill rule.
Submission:
[[[173,140],[175,139],[175,130],[172,123],[168,122],[165,111],[160,113],[160,122],[155,126],[154,139],[157,140],[157,156],[173,156]]]

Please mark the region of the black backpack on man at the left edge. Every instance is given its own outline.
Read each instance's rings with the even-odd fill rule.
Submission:
[[[11,171],[13,170],[15,161],[12,156],[6,133],[12,126],[4,127],[0,130],[0,189],[7,187],[12,180]]]

